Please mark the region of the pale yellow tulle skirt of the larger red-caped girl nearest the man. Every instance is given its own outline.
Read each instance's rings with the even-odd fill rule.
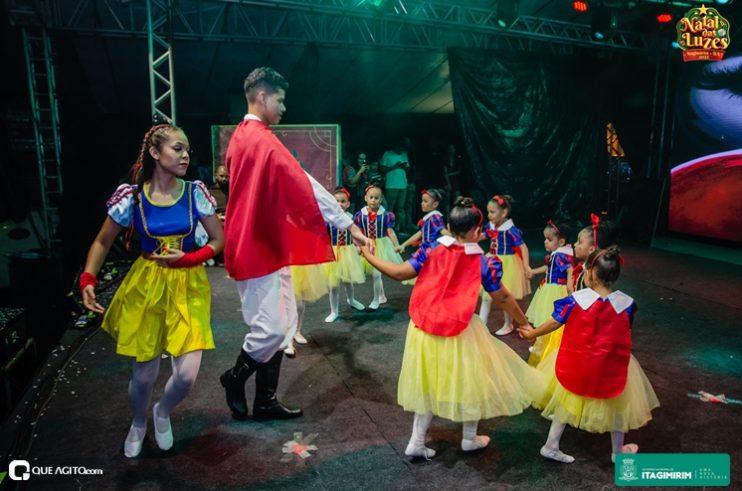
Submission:
[[[545,376],[495,339],[473,315],[458,336],[433,336],[410,322],[397,401],[405,411],[452,421],[520,414],[546,388]]]

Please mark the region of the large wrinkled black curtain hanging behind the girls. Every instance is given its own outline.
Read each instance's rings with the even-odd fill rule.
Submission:
[[[548,218],[584,222],[600,209],[605,125],[615,105],[610,65],[590,54],[448,54],[475,200],[512,195],[519,226]]]

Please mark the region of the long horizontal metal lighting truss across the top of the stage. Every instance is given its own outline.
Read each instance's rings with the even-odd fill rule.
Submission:
[[[161,0],[162,1],[162,0]],[[172,0],[168,0],[172,1]],[[449,0],[451,1],[451,0]],[[49,28],[116,37],[147,34],[141,0],[36,0]],[[616,31],[592,39],[590,26],[520,16],[508,28],[492,9],[422,0],[394,0],[382,8],[364,0],[180,0],[173,5],[174,39],[250,43],[307,43],[442,50],[447,47],[564,46],[641,51],[641,34]]]

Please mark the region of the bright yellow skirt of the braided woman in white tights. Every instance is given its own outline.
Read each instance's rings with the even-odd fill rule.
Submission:
[[[214,349],[211,288],[203,266],[164,268],[138,258],[121,282],[102,328],[116,353],[144,362]]]

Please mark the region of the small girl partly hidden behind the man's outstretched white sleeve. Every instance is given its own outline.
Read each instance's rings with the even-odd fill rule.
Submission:
[[[350,207],[350,192],[345,188],[335,190],[335,199],[340,208],[346,210]],[[353,285],[366,281],[366,275],[363,272],[363,263],[358,250],[351,241],[350,234],[346,230],[340,230],[327,224],[330,233],[332,249],[335,252],[335,262],[325,263],[325,274],[330,285],[330,315],[325,317],[325,322],[335,322],[340,315],[340,285],[345,290],[348,305],[356,310],[363,310],[366,307],[355,299]]]

